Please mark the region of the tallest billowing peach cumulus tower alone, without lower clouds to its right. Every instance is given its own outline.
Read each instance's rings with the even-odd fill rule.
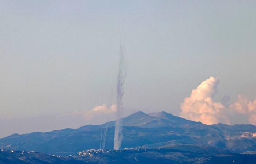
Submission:
[[[225,116],[227,114],[225,106],[212,100],[214,95],[218,93],[217,85],[219,82],[219,78],[210,77],[196,89],[193,89],[190,97],[185,98],[181,104],[180,116],[188,120],[201,121],[203,124],[216,124],[218,122],[229,124],[230,122]]]

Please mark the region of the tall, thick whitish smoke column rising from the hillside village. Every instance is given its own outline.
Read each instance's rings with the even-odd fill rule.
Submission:
[[[114,150],[118,150],[121,147],[122,142],[122,98],[123,98],[123,85],[125,80],[125,67],[124,67],[124,48],[120,44],[119,52],[119,67],[117,75],[117,111],[116,111],[116,126],[115,126],[115,136],[114,136]]]

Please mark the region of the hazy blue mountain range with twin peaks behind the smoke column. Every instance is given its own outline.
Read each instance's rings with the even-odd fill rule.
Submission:
[[[211,155],[221,151],[243,153],[256,151],[256,126],[205,125],[166,112],[136,112],[122,119],[121,148],[168,148],[201,153],[211,148]],[[109,128],[105,149],[113,149],[114,121]],[[56,155],[74,155],[78,151],[99,148],[103,125],[86,125],[78,129],[13,134],[0,139],[0,148],[29,150]]]

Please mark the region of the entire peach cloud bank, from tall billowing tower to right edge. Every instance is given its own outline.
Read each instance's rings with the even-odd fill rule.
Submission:
[[[190,97],[180,104],[180,117],[200,121],[203,124],[254,124],[256,125],[256,99],[238,95],[237,101],[228,105],[229,97],[223,97],[221,102],[214,102],[218,93],[218,77],[210,77],[193,89]]]

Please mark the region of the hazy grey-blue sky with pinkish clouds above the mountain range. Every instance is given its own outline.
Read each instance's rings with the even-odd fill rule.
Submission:
[[[250,112],[230,116],[247,111],[236,102],[256,98],[256,1],[1,0],[0,20],[0,137],[113,120],[106,104],[120,40],[124,115],[165,110],[206,124],[256,124]],[[208,122],[191,106],[207,80],[210,92],[199,97],[223,106]]]

